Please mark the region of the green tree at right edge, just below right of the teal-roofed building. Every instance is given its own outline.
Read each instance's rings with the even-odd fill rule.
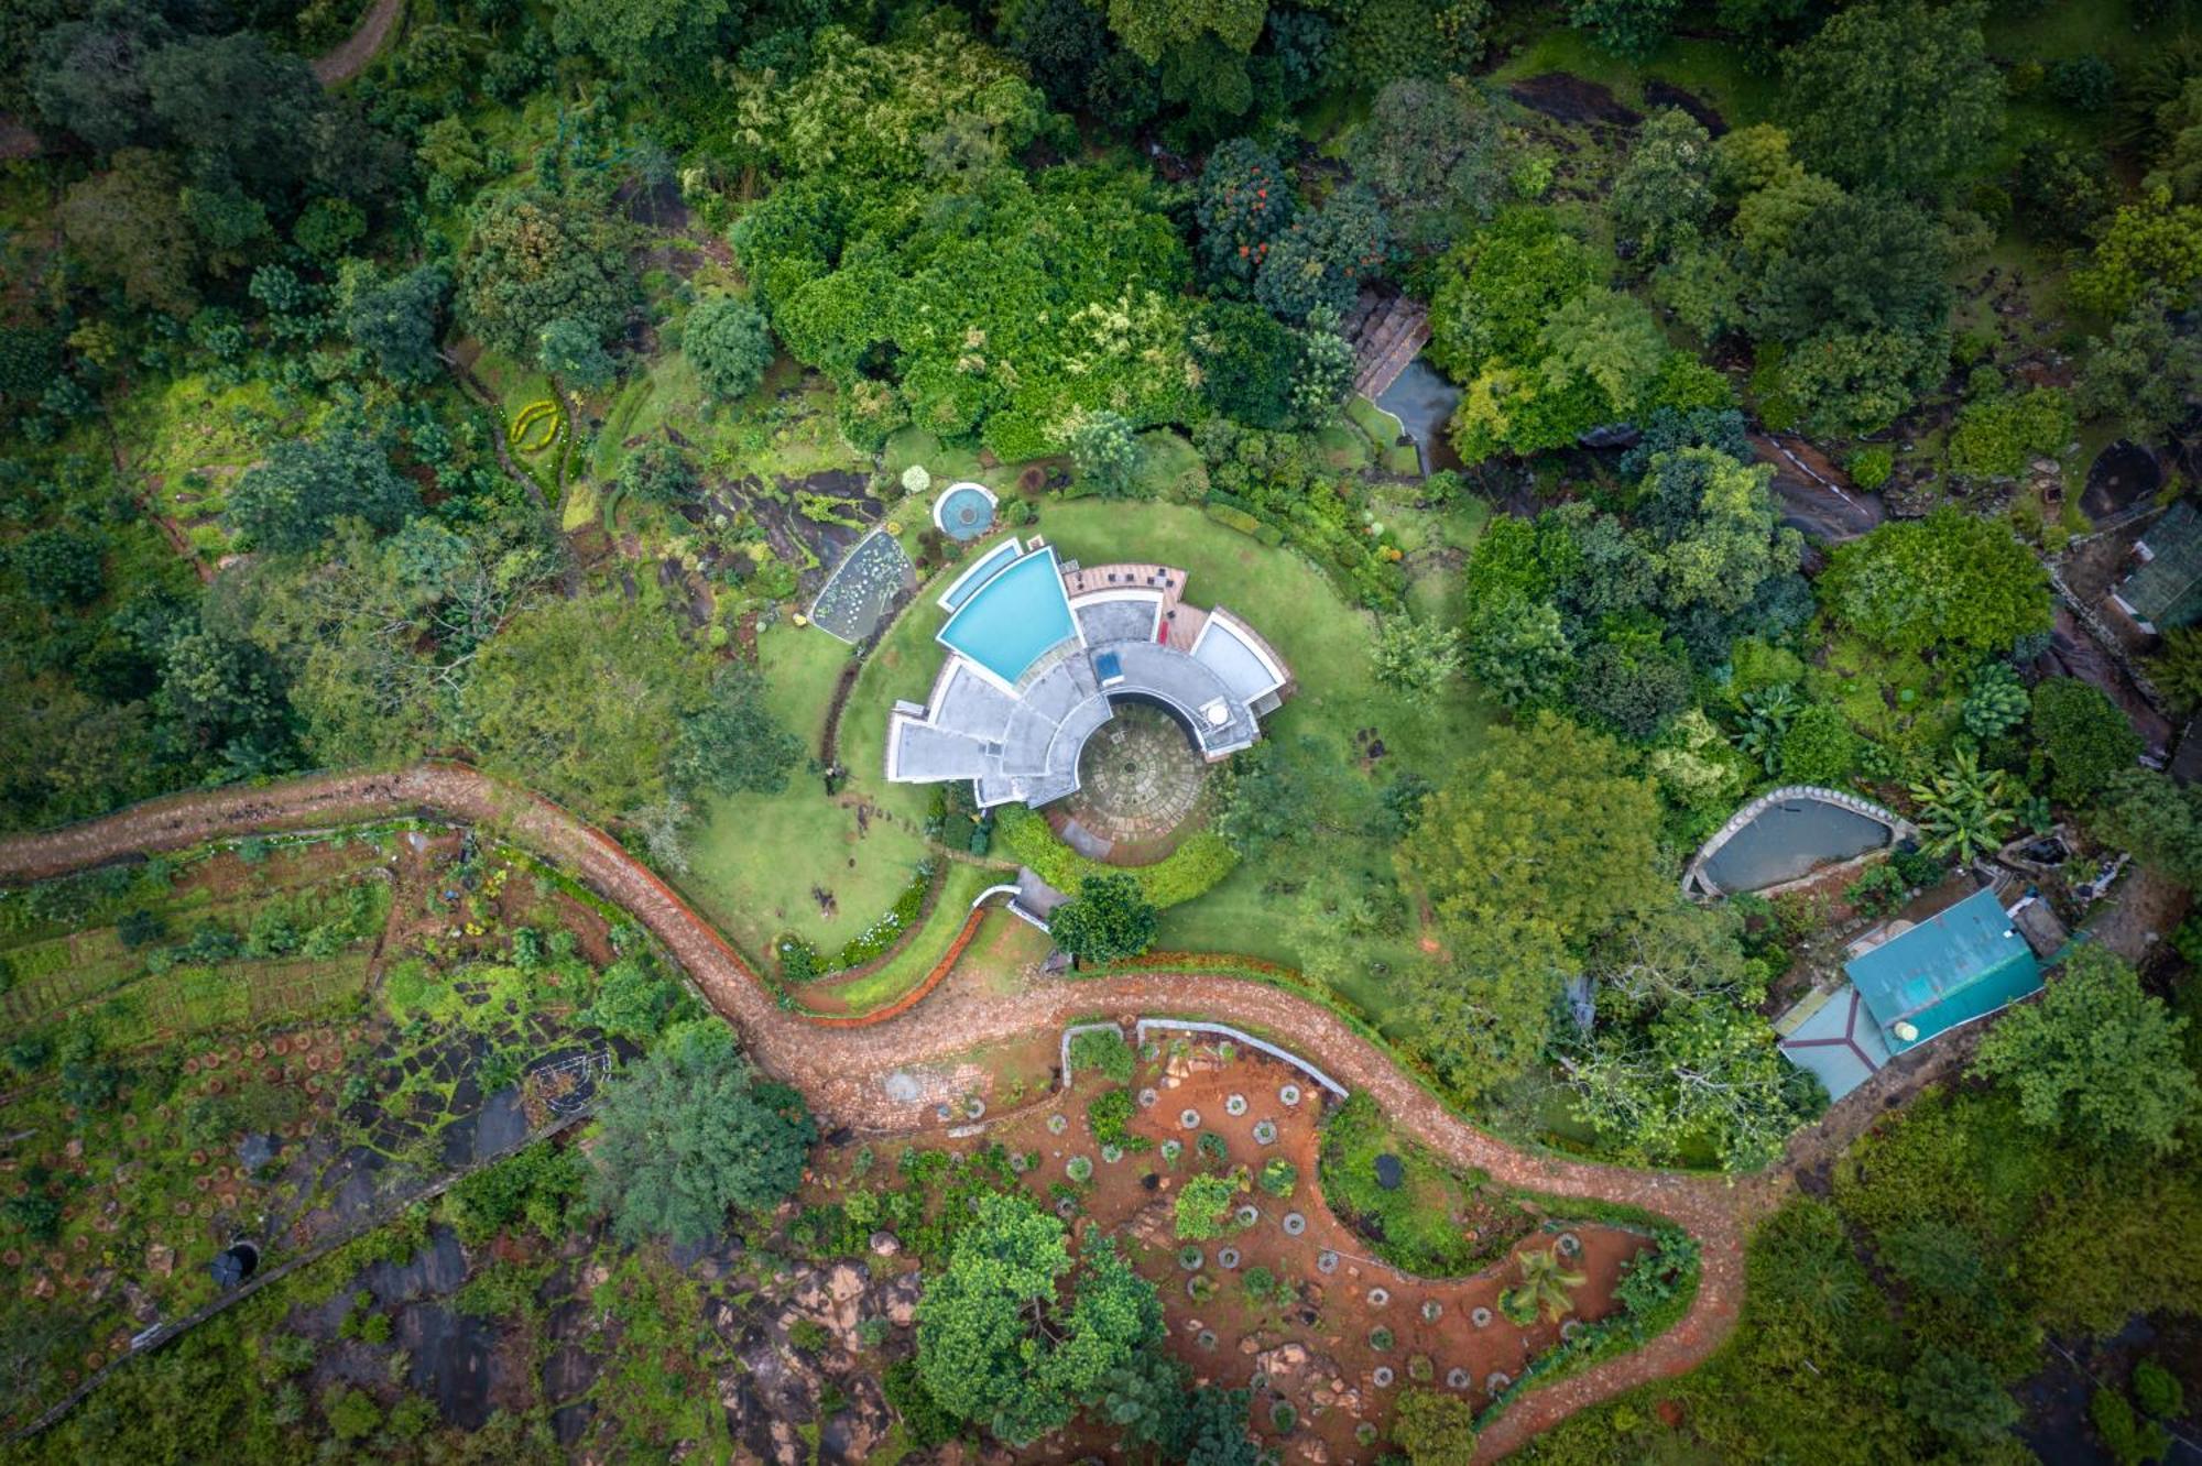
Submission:
[[[2162,1158],[2202,1109],[2180,1046],[2187,1019],[2140,991],[2132,964],[2096,942],[1980,1041],[1973,1072],[2006,1085],[2028,1125],[2099,1156]]]

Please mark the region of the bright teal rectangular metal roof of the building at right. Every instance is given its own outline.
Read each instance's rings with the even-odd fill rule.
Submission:
[[[2041,962],[1995,891],[1975,891],[1843,964],[1892,1054],[2041,988]],[[1916,1039],[1898,1039],[1911,1024]]]

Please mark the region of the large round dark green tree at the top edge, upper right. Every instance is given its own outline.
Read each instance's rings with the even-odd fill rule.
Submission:
[[[2004,128],[1982,15],[1977,0],[1843,7],[1784,55],[1797,152],[1852,187],[1927,189],[1969,167]]]

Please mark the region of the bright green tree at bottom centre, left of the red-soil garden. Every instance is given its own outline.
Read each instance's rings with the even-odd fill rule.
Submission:
[[[1022,1193],[978,1197],[918,1301],[918,1376],[947,1415],[1028,1446],[1160,1336],[1154,1286],[1108,1239],[1088,1248],[1068,1310],[1066,1272],[1061,1222]]]

